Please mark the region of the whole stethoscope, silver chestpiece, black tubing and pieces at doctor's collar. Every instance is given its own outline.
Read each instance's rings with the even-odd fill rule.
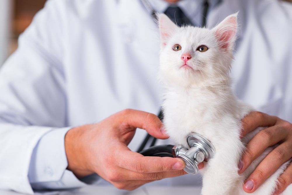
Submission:
[[[157,21],[156,11],[152,8],[150,3],[147,0],[141,0],[142,4],[145,6],[147,11],[151,14],[153,20]],[[208,12],[208,0],[204,1],[203,4],[203,17],[202,17],[202,26],[206,25],[206,15]],[[158,114],[159,119],[162,121],[163,112],[160,110]],[[146,144],[151,140],[150,148],[145,149]],[[199,168],[198,164],[203,161],[208,161],[215,154],[215,148],[205,137],[198,133],[191,133],[186,137],[187,144],[189,148],[184,147],[183,145],[159,145],[154,146],[156,138],[147,134],[144,141],[140,145],[137,152],[144,156],[168,156],[174,158],[180,158],[185,162],[184,170],[192,175],[198,173]]]

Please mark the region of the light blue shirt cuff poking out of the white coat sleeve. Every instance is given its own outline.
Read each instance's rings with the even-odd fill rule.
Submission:
[[[66,170],[65,135],[71,127],[57,128],[46,133],[32,152],[28,179],[33,189],[68,189],[86,185]],[[91,183],[98,180],[96,175]]]

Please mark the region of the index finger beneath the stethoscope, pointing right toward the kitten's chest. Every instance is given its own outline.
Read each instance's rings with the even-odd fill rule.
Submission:
[[[143,156],[131,150],[123,150],[123,154],[116,153],[120,159],[117,162],[119,167],[138,173],[182,170],[185,167],[184,161],[178,158]]]

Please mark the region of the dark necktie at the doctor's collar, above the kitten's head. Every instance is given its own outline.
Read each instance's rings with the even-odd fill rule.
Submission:
[[[179,7],[168,7],[164,13],[178,26],[192,25],[192,22]]]

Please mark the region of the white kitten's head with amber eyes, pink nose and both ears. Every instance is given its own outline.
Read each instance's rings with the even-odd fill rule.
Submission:
[[[158,15],[161,37],[160,79],[192,86],[228,80],[236,39],[237,13],[213,29],[178,27],[165,14]]]

